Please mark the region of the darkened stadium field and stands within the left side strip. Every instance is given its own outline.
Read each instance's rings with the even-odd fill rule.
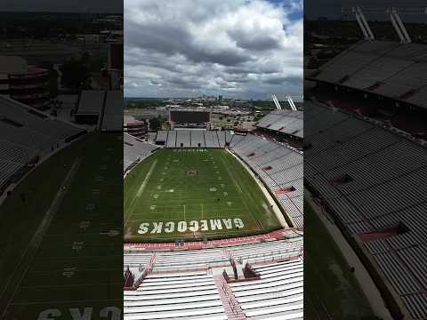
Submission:
[[[0,319],[122,315],[123,143],[109,100],[89,126],[0,97]]]

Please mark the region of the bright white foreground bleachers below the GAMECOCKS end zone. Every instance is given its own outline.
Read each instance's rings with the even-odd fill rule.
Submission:
[[[156,256],[153,272],[136,290],[125,290],[125,319],[230,319],[224,301],[230,296],[224,297],[220,285],[224,282],[222,267],[212,270],[219,267],[219,260],[230,268],[230,256],[224,251],[236,259],[252,261],[260,275],[260,279],[225,284],[247,319],[302,319],[303,262],[285,260],[283,255],[287,252],[287,257],[296,257],[295,253],[302,250],[302,239],[294,236],[267,243],[178,252],[125,250],[125,268],[139,267],[142,271],[153,254]],[[248,255],[253,258],[247,260]],[[269,262],[258,265],[255,261]]]

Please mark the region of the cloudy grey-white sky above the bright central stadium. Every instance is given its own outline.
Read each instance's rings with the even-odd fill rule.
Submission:
[[[301,96],[302,12],[302,0],[125,0],[125,96]]]

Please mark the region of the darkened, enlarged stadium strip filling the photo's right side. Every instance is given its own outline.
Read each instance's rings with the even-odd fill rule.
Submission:
[[[305,2],[309,318],[427,316],[426,13],[422,1]]]

